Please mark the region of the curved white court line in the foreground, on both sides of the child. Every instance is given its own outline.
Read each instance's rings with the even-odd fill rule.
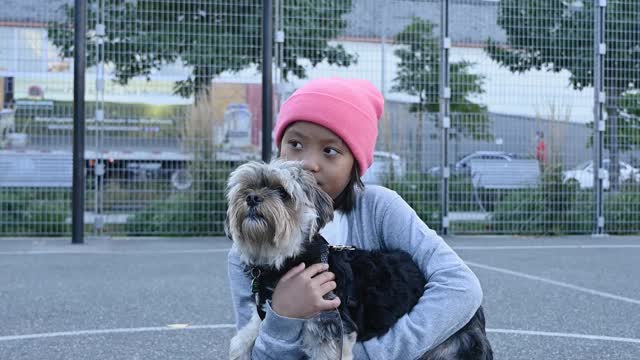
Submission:
[[[179,330],[219,330],[219,329],[234,329],[234,328],[235,328],[234,324],[213,324],[213,325],[189,325],[186,327],[178,327],[178,328],[172,328],[169,326],[160,326],[160,327],[141,327],[141,328],[63,331],[63,332],[40,333],[40,334],[0,336],[0,342],[45,339],[45,338],[53,338],[53,337],[91,336],[91,335],[105,335],[105,334],[107,335],[108,334],[129,334],[129,333],[179,331]],[[495,334],[562,337],[562,338],[573,338],[573,339],[615,341],[615,342],[640,344],[640,339],[623,338],[623,337],[615,337],[615,336],[590,335],[590,334],[575,334],[575,333],[518,330],[518,329],[487,329],[487,332],[495,333]]]

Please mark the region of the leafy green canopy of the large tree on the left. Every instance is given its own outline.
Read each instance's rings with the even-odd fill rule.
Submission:
[[[341,45],[329,45],[345,27],[342,16],[351,0],[339,8],[322,0],[289,1],[283,7],[283,76],[306,77],[300,59],[316,66],[322,61],[349,66],[356,56]],[[87,65],[97,63],[95,46],[98,11],[104,17],[104,61],[114,66],[117,81],[125,85],[136,76],[149,79],[154,70],[181,62],[190,70],[175,83],[174,92],[190,97],[208,91],[211,80],[224,71],[261,66],[262,1],[88,0]],[[48,35],[63,57],[73,56],[74,8],[62,10],[66,19],[49,24]]]

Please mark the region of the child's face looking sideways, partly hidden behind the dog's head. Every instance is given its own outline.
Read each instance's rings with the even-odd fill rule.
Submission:
[[[295,122],[287,128],[282,137],[280,157],[302,160],[304,168],[334,200],[349,183],[355,161],[349,147],[336,134],[305,121]]]

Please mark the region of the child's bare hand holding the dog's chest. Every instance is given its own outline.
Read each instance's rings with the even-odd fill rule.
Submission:
[[[289,270],[273,291],[272,309],[280,316],[309,319],[340,306],[340,299],[324,299],[336,288],[335,274],[326,271],[327,264],[313,264],[305,269],[304,263]]]

